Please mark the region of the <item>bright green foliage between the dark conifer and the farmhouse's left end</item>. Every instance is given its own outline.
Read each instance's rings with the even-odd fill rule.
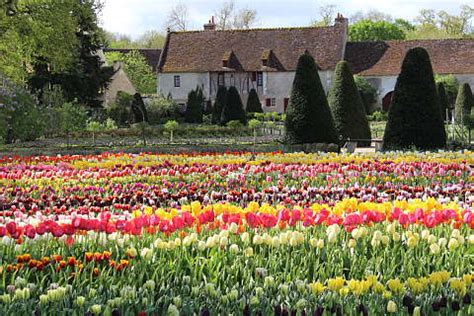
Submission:
[[[127,54],[107,52],[105,57],[109,64],[114,61],[123,63],[125,73],[140,94],[156,93],[156,75],[146,58],[139,51],[132,50]]]

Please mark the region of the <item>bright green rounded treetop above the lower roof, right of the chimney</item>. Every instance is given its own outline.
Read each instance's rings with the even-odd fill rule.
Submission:
[[[406,35],[396,24],[386,21],[362,20],[349,27],[351,41],[403,40]]]

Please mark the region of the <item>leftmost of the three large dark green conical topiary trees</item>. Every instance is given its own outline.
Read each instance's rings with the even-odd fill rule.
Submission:
[[[285,130],[288,144],[339,142],[316,63],[309,54],[298,60]]]

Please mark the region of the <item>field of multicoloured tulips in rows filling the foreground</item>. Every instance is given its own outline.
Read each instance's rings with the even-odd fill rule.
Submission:
[[[473,165],[0,158],[0,315],[472,315]]]

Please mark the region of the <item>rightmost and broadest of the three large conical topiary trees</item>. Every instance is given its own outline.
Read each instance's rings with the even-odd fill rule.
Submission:
[[[437,149],[446,131],[428,52],[410,49],[397,79],[384,135],[384,149]]]

